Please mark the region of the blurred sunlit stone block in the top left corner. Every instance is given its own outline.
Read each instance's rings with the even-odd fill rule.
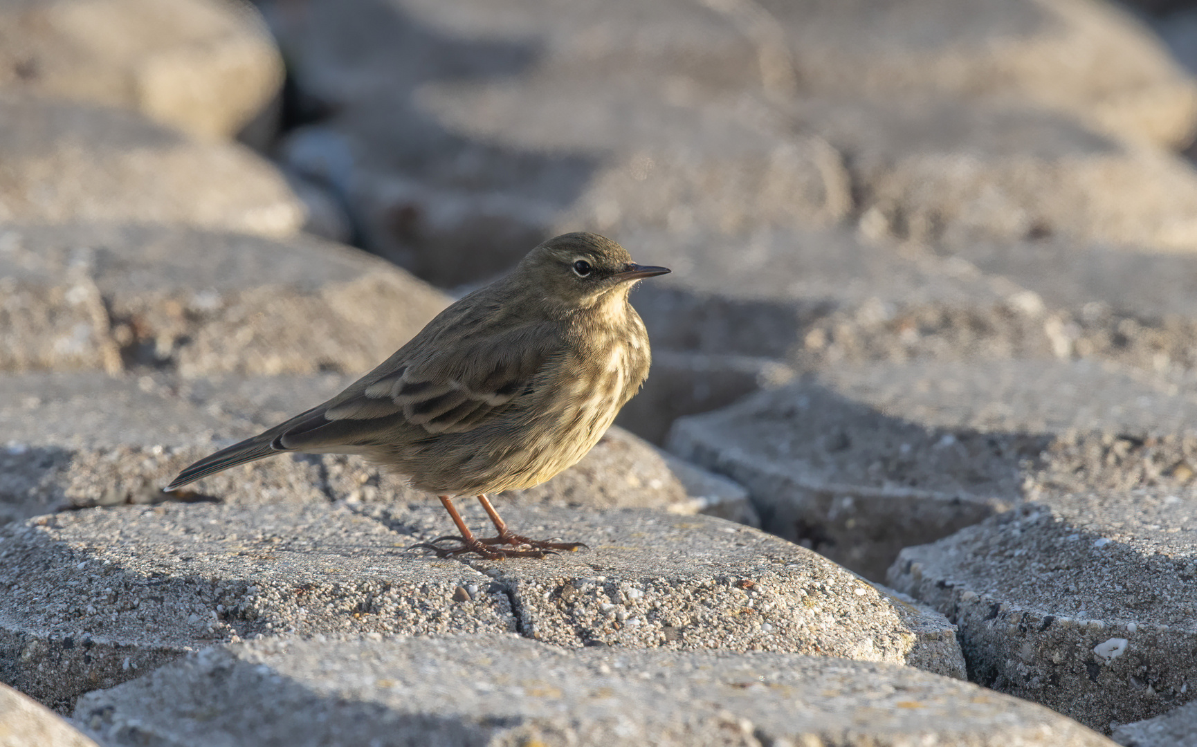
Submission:
[[[231,138],[282,85],[282,60],[249,4],[63,0],[0,4],[0,87],[140,111]]]

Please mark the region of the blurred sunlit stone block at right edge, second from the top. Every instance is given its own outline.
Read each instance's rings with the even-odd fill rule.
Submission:
[[[1197,248],[1189,163],[1070,117],[942,97],[804,98],[794,117],[843,153],[870,235]]]

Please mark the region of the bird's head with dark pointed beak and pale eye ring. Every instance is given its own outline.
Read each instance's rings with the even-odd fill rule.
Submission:
[[[637,281],[669,272],[667,267],[637,265],[615,242],[578,231],[540,244],[519,262],[517,274],[551,302],[587,309],[627,298]]]

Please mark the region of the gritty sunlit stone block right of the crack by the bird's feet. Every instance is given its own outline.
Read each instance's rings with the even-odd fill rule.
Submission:
[[[467,522],[488,526],[473,502],[458,503]],[[941,615],[751,527],[637,509],[496,508],[514,532],[589,546],[545,563],[469,561],[510,590],[519,631],[537,640],[792,651],[962,676]],[[432,539],[448,529],[438,509],[379,506],[370,515]]]

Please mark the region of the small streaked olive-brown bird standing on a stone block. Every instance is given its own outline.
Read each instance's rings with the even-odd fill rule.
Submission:
[[[602,236],[551,238],[341,394],[200,460],[165,490],[286,451],[360,454],[440,498],[461,535],[418,547],[442,558],[576,549],[511,533],[486,493],[540,485],[598,442],[649,375],[649,335],[628,291],[667,272]],[[498,534],[475,538],[454,496],[476,496]]]

